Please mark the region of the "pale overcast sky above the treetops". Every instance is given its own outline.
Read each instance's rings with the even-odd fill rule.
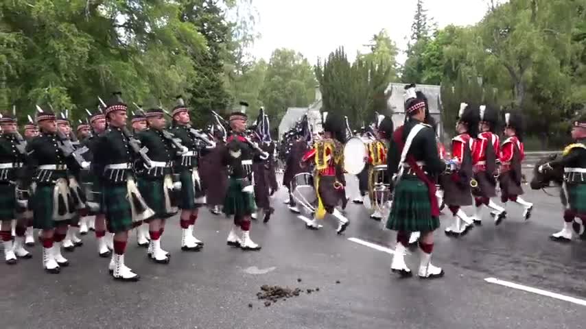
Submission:
[[[256,58],[268,60],[276,48],[300,51],[315,64],[338,46],[353,59],[373,34],[386,28],[405,50],[417,0],[254,0],[261,34],[253,46]],[[487,10],[486,0],[426,0],[427,15],[439,27],[473,25]],[[320,25],[320,27],[318,27]],[[405,55],[399,55],[403,62]]]

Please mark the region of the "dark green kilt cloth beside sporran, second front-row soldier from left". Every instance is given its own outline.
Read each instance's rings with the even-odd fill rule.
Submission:
[[[38,184],[30,196],[29,207],[33,212],[33,227],[39,230],[52,230],[60,224],[69,225],[71,219],[56,221],[54,212],[54,184]],[[73,199],[67,200],[69,209],[73,208]],[[71,213],[73,217],[73,213]]]

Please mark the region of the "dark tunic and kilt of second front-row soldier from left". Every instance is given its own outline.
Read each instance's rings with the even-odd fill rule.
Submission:
[[[27,144],[27,166],[36,169],[29,208],[33,212],[33,226],[40,230],[67,225],[75,213],[67,182],[69,168],[75,161],[65,158],[59,143],[56,134],[41,133]]]

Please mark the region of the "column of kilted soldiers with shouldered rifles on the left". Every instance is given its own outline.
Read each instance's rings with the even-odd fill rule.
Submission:
[[[50,105],[36,106],[24,138],[15,110],[1,115],[0,239],[5,263],[32,258],[25,247],[34,245],[36,228],[43,269],[60,273],[69,265],[62,250],[80,247],[78,234],[94,230],[99,256],[110,257],[110,275],[137,281],[139,275],[127,265],[132,260],[124,258],[130,232],[136,231],[137,243],[147,247],[154,263],[167,264],[171,254],[163,249],[162,237],[167,219],[180,212],[180,248],[200,251],[204,243],[194,236],[194,228],[212,185],[225,190],[209,188],[211,212],[218,215],[222,209],[235,217],[237,226],[228,234],[228,244],[244,250],[261,248],[250,239],[255,197],[262,202],[267,222],[272,212],[269,195],[277,189],[274,172],[270,174],[274,143],[265,114],[255,124],[257,133],[250,134],[243,102],[229,122],[213,112],[206,132],[191,127],[189,108],[178,97],[171,113],[161,106],[146,111],[137,106],[129,130],[128,106],[121,93],[107,102],[98,99],[97,112],[86,110],[89,117],[75,132],[69,113],[55,113]],[[165,115],[171,118],[170,127]],[[226,128],[232,130],[230,136]],[[202,162],[212,165],[200,170]],[[204,181],[202,171],[213,181]],[[255,181],[263,184],[257,188]]]

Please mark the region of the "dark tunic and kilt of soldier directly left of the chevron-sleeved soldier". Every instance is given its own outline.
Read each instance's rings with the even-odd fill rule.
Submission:
[[[179,138],[181,144],[187,147],[187,154],[176,159],[174,166],[176,175],[181,182],[179,208],[196,209],[204,203],[205,191],[198,172],[200,143],[190,132],[187,125],[175,125],[169,132]],[[217,164],[216,164],[217,165]]]

